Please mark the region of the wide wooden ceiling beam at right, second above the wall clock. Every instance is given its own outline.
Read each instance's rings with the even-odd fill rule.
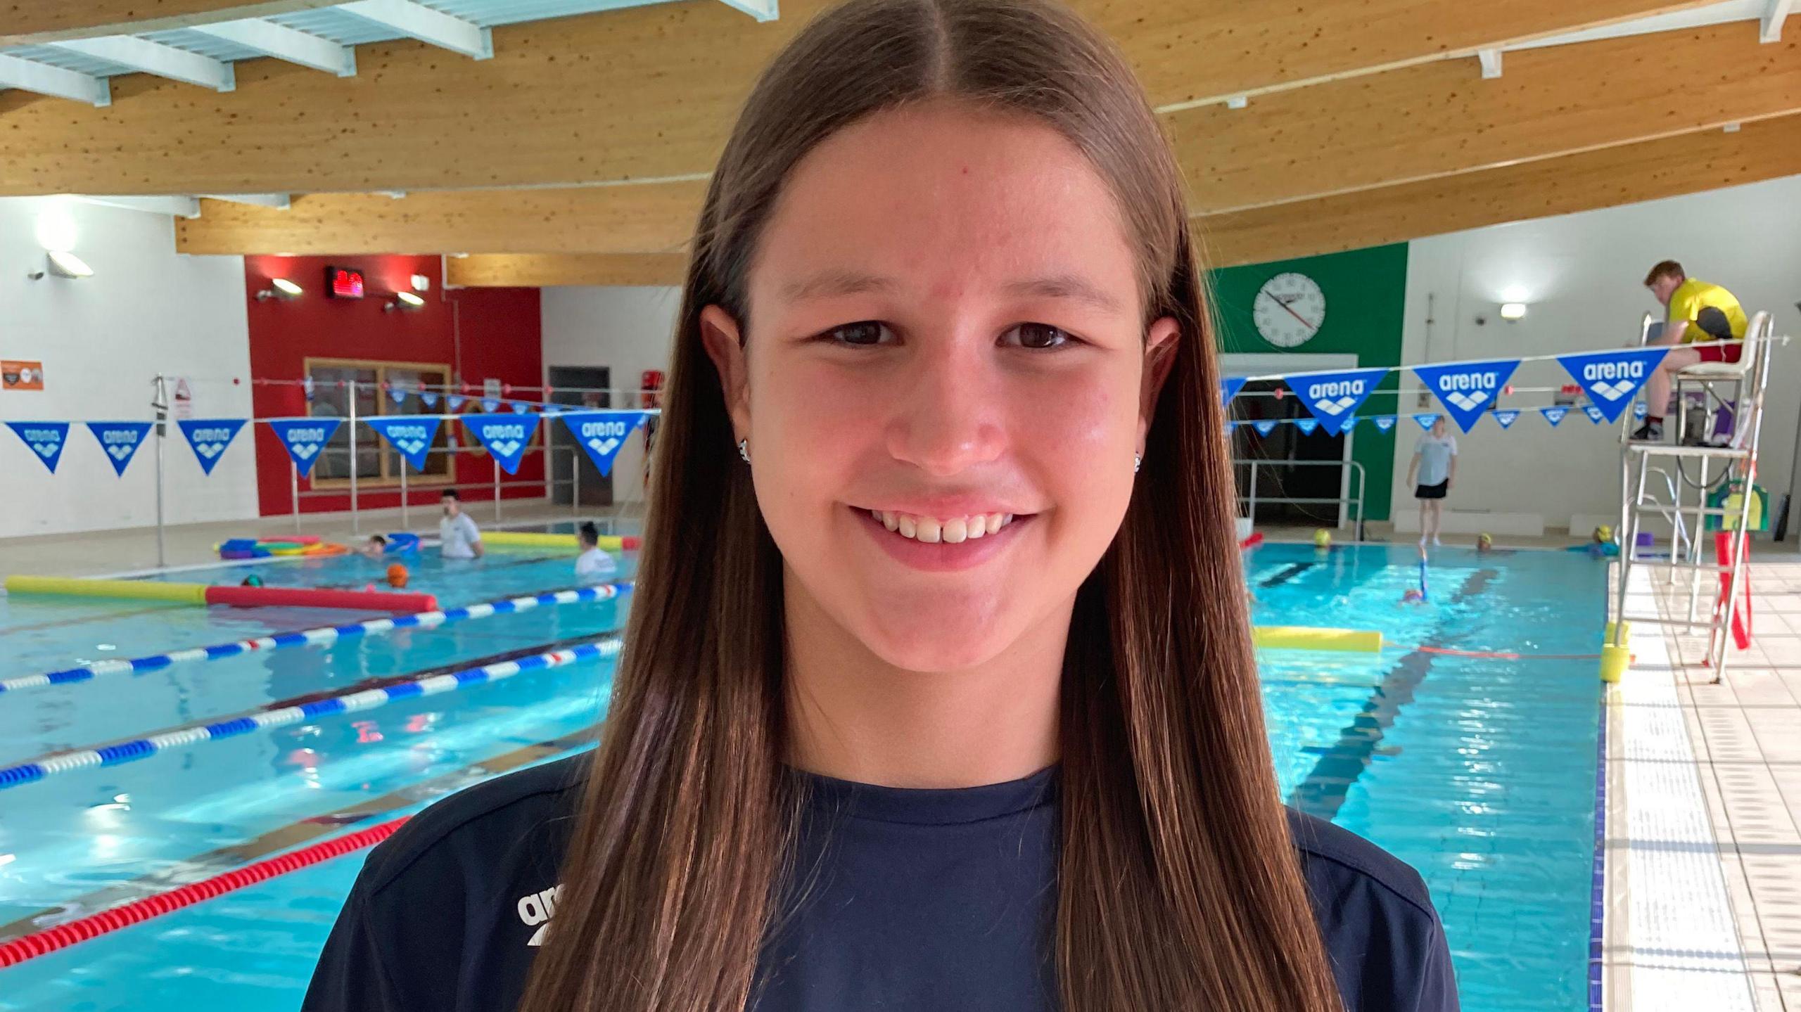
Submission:
[[[1244,211],[1801,112],[1796,36],[1731,22],[1525,49],[1497,79],[1426,63],[1165,122],[1194,209]]]

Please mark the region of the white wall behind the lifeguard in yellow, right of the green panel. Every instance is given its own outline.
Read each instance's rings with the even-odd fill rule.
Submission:
[[[1776,333],[1801,339],[1801,176],[1416,239],[1407,263],[1401,360],[1551,355],[1634,342],[1639,319],[1662,313],[1641,285],[1661,259],[1677,259],[1691,277],[1727,286],[1747,313],[1770,310]],[[1529,303],[1525,319],[1500,321],[1502,301]],[[1477,315],[1488,324],[1477,326]],[[1770,490],[1772,508],[1788,492],[1796,456],[1797,378],[1801,342],[1781,348],[1770,373],[1760,484]],[[1513,382],[1554,387],[1569,376],[1543,362],[1522,366]],[[1408,373],[1403,389],[1417,391],[1419,382]],[[1403,414],[1437,411],[1437,403],[1417,403],[1403,396]],[[1543,403],[1551,394],[1502,398],[1502,407]],[[1417,427],[1405,418],[1401,425],[1407,434],[1396,445],[1396,519],[1412,520],[1412,488],[1405,483]],[[1448,510],[1538,513],[1549,528],[1569,524],[1574,513],[1619,510],[1614,427],[1570,414],[1549,429],[1533,412],[1511,430],[1484,420],[1457,439],[1461,461]]]

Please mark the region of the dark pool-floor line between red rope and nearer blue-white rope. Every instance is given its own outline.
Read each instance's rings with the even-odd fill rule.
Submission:
[[[499,776],[502,773],[515,771],[528,764],[542,758],[549,758],[571,749],[580,749],[593,745],[600,736],[600,724],[589,724],[580,731],[569,735],[558,735],[555,738],[546,738],[542,742],[531,742],[529,745],[517,747],[510,753],[501,753],[493,758],[465,765],[461,769],[421,780],[418,783],[409,783],[400,791],[389,791],[380,798],[369,798],[367,801],[358,801],[348,809],[339,809],[335,812],[326,812],[322,816],[308,816],[304,819],[292,821],[283,827],[276,827],[261,836],[247,839],[243,843],[234,843],[231,846],[222,846],[218,850],[207,850],[205,854],[196,854],[182,861],[167,864],[164,870],[151,875],[139,875],[137,879],[128,879],[115,886],[106,886],[92,893],[83,893],[68,902],[40,909],[38,913],[13,920],[11,924],[0,924],[0,944],[5,944],[22,935],[31,935],[34,931],[43,931],[47,927],[56,927],[58,924],[67,924],[88,917],[92,913],[112,909],[144,897],[153,897],[189,882],[198,882],[202,879],[211,879],[223,872],[234,868],[243,868],[254,861],[261,861],[272,854],[281,854],[301,846],[303,843],[315,841],[322,836],[337,836],[344,827],[353,827],[357,823],[367,823],[371,819],[398,812],[400,809],[411,809],[421,801],[434,801],[456,791],[461,791],[477,780],[490,776]]]

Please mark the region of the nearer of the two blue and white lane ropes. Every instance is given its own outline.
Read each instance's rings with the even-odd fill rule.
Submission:
[[[195,742],[216,742],[220,738],[236,738],[238,735],[249,735],[250,731],[261,731],[267,727],[283,727],[286,724],[299,724],[301,720],[312,720],[313,717],[375,709],[378,706],[387,706],[396,699],[438,695],[445,691],[456,691],[463,686],[477,682],[497,682],[510,679],[519,672],[562,668],[564,664],[575,664],[576,661],[612,657],[618,652],[620,652],[620,637],[605,636],[593,643],[580,643],[576,646],[549,650],[544,654],[529,654],[526,657],[517,657],[513,661],[495,661],[492,664],[483,664],[479,668],[463,668],[461,672],[447,672],[441,675],[409,679],[384,688],[369,688],[360,691],[346,690],[344,693],[328,695],[303,704],[288,704],[288,706],[270,704],[265,708],[240,713],[236,717],[209,718],[209,720],[198,720],[195,724],[182,724],[180,727],[169,727],[167,731],[157,731],[155,735],[146,735],[142,738],[126,738],[122,742],[113,742],[110,745],[49,753],[22,764],[0,767],[0,789],[18,787],[20,783],[32,783],[43,780],[45,776],[68,773],[74,769],[86,769],[90,765],[121,765],[128,762],[137,762],[140,758],[153,756],[164,749],[191,745]]]

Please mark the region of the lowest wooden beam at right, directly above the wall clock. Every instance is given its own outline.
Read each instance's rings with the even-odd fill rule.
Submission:
[[[1208,267],[1417,239],[1801,175],[1801,115],[1194,220]]]

